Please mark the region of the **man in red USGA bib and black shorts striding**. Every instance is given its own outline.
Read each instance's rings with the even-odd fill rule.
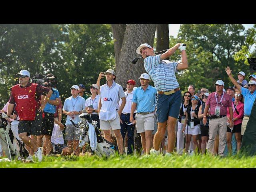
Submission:
[[[36,154],[38,161],[42,161],[42,148],[37,147],[36,136],[41,134],[41,126],[38,126],[36,118],[36,105],[39,102],[41,95],[46,95],[39,112],[42,112],[48,102],[52,91],[36,83],[30,83],[30,73],[27,70],[21,70],[16,74],[20,84],[12,86],[12,94],[8,105],[8,120],[16,102],[15,110],[18,112],[20,122],[18,124],[18,133],[22,141],[28,145]],[[38,113],[37,113],[38,114]],[[28,137],[31,134],[31,139]]]

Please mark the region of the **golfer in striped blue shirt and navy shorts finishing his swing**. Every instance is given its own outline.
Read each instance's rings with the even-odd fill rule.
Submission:
[[[188,68],[186,46],[184,45],[178,43],[165,53],[156,56],[154,56],[153,48],[146,43],[141,44],[136,50],[136,53],[141,54],[144,58],[145,70],[153,80],[156,90],[158,90],[156,97],[158,130],[154,136],[154,149],[150,150],[150,154],[160,154],[159,146],[166,131],[166,124],[168,131],[166,155],[172,155],[174,150],[175,125],[182,100],[180,85],[177,82],[175,72]],[[177,49],[181,51],[181,62],[164,60],[173,55]]]

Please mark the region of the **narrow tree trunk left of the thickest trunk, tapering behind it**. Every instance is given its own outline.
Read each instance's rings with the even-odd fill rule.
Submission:
[[[124,33],[126,30],[126,24],[111,24],[113,38],[114,38],[114,51],[116,66],[118,66],[122,44],[124,40]]]

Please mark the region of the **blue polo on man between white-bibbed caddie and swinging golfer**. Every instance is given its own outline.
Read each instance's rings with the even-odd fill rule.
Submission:
[[[142,86],[134,90],[132,102],[137,103],[137,113],[152,112],[156,108],[156,88],[148,85],[146,91]]]

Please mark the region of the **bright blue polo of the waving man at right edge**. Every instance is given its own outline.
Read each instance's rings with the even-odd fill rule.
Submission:
[[[244,114],[250,116],[252,111],[252,105],[256,98],[256,91],[254,91],[254,93],[251,94],[250,90],[243,87],[241,88],[241,91],[242,95],[244,96]]]

